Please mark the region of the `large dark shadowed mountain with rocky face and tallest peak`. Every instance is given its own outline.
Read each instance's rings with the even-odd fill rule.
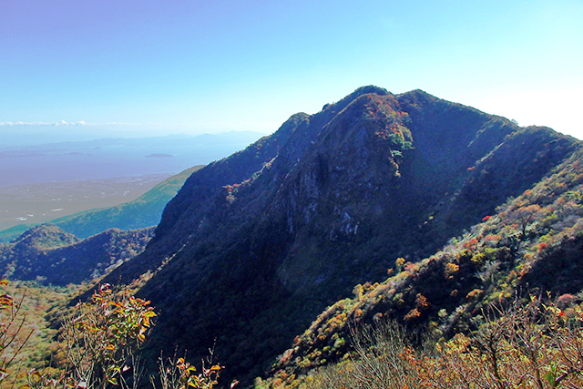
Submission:
[[[423,91],[363,87],[194,173],[107,281],[161,267],[139,292],[160,308],[153,345],[203,353],[216,339],[231,374],[261,374],[353,285],[435,252],[578,148]]]

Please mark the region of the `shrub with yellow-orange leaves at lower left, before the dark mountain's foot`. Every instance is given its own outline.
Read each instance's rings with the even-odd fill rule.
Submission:
[[[79,302],[62,323],[58,369],[31,371],[28,388],[138,388],[144,377],[138,349],[156,317],[150,302],[128,292],[114,293],[101,285],[90,302]],[[184,358],[159,360],[161,389],[211,389],[221,367],[213,364],[201,372]],[[150,377],[156,388],[156,380]],[[235,386],[233,382],[230,387]]]

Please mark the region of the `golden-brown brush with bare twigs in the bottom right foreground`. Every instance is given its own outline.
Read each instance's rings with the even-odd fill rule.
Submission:
[[[531,297],[492,308],[479,330],[414,347],[384,322],[353,332],[354,353],[315,373],[269,387],[575,388],[583,385],[583,309]]]

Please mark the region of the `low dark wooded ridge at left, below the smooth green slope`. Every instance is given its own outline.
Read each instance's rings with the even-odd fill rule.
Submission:
[[[0,271],[10,279],[44,284],[90,282],[144,251],[153,232],[110,229],[81,241],[43,224],[0,247]]]

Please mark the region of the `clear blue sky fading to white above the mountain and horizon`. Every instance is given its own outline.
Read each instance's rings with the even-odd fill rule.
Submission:
[[[371,84],[583,138],[583,1],[0,0],[4,128],[271,133]]]

